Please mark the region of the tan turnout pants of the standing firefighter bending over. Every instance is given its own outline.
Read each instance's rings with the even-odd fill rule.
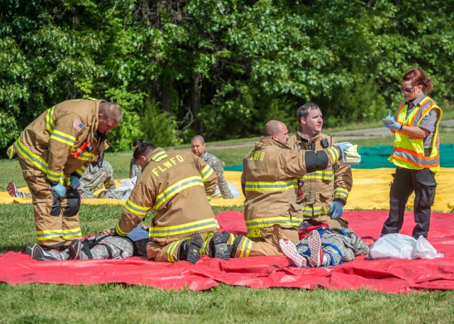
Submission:
[[[38,244],[53,249],[82,238],[79,225],[80,196],[77,190],[67,189],[67,196],[58,197],[48,184],[44,172],[23,160],[20,155],[18,161],[33,200]]]

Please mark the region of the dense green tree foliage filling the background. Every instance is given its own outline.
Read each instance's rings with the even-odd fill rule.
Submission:
[[[140,134],[172,145],[196,132],[210,140],[258,135],[270,118],[293,125],[308,101],[321,106],[327,125],[378,120],[402,99],[397,86],[410,67],[433,79],[433,99],[453,102],[450,1],[4,0],[1,7],[1,150],[45,108],[87,96],[122,102],[115,150]],[[138,119],[152,110],[153,127]]]

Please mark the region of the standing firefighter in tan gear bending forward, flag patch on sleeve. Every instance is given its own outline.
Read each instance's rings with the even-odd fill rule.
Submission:
[[[122,120],[120,106],[70,100],[44,111],[14,143],[32,194],[38,244],[62,250],[82,238],[79,179]]]

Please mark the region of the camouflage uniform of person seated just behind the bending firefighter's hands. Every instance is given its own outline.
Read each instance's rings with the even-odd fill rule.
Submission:
[[[102,167],[99,167],[98,164],[90,164],[80,179],[78,189],[80,197],[82,199],[96,198],[93,192],[100,189],[103,184],[107,190],[116,188],[114,169],[111,164],[107,161],[102,162]]]

